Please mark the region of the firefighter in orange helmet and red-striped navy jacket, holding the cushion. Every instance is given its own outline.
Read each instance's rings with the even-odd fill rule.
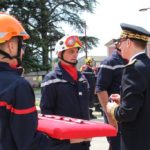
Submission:
[[[34,92],[21,77],[23,40],[28,38],[15,17],[0,13],[0,150],[56,150],[58,146],[36,130]],[[65,150],[67,145],[63,146]]]

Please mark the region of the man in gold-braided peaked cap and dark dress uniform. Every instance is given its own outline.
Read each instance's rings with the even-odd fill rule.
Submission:
[[[150,59],[145,53],[150,32],[126,23],[121,28],[119,48],[129,63],[121,95],[111,95],[114,102],[107,104],[107,112],[120,125],[121,150],[150,150]]]

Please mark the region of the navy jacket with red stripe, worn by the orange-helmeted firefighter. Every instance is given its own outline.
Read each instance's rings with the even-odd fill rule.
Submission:
[[[20,76],[20,70],[0,62],[0,150],[49,150],[53,139],[36,128],[30,84]]]

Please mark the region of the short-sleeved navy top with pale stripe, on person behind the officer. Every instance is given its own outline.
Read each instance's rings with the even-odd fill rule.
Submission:
[[[96,93],[107,91],[108,95],[120,93],[123,68],[127,62],[121,58],[117,51],[100,64],[97,75]]]

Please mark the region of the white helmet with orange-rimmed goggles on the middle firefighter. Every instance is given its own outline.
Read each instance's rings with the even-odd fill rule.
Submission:
[[[80,39],[78,38],[78,36],[69,36],[66,35],[64,37],[62,37],[55,46],[55,52],[56,54],[58,54],[59,52],[62,52],[64,50],[70,49],[70,48],[81,48],[82,47],[82,43],[80,41]]]

